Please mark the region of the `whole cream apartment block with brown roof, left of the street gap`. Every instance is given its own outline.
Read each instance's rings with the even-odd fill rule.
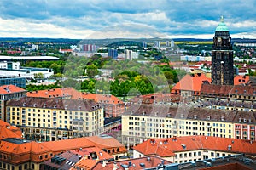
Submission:
[[[6,112],[7,122],[37,141],[93,136],[104,126],[103,109],[92,99],[23,97],[8,101]]]

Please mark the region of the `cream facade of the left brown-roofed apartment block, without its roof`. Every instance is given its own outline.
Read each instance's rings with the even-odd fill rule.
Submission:
[[[20,127],[26,136],[45,133],[50,140],[67,139],[70,132],[74,137],[93,136],[101,133],[104,127],[102,108],[89,112],[8,106],[7,116],[8,122]]]

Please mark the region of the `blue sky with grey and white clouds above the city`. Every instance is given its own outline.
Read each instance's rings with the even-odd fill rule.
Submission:
[[[0,37],[256,38],[255,0],[1,0]]]

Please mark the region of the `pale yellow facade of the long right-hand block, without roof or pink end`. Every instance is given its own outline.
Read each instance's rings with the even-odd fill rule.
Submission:
[[[159,116],[122,116],[123,144],[139,144],[151,138],[172,138],[173,136],[204,135],[235,138],[235,123],[208,120],[159,117]]]

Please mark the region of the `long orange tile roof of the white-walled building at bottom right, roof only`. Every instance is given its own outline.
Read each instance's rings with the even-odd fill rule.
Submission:
[[[185,144],[185,149],[183,145]],[[228,146],[231,150],[228,150]],[[256,155],[256,142],[248,140],[218,138],[212,136],[184,136],[175,139],[148,139],[133,147],[144,156],[174,156],[176,152],[188,150],[219,150],[224,152],[245,153]]]

